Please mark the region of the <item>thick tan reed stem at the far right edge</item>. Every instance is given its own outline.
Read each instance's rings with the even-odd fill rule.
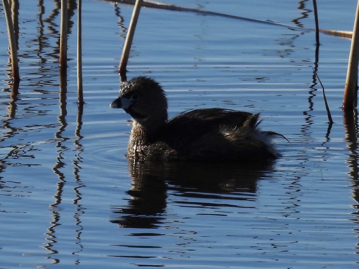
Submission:
[[[353,37],[351,38],[351,46],[349,53],[348,71],[346,74],[344,97],[342,109],[343,111],[351,110],[356,106],[356,91],[358,89],[358,60],[359,60],[359,0],[356,6]]]

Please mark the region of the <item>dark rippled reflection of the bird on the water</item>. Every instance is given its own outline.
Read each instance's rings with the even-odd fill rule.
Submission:
[[[129,163],[132,187],[127,193],[131,198],[128,205],[112,208],[113,213],[118,216],[111,222],[121,227],[158,227],[166,218],[168,190],[187,198],[215,196],[218,199],[221,194],[235,192],[247,194],[238,199],[251,199],[257,190],[257,180],[271,171],[272,164],[241,166],[213,162]]]

